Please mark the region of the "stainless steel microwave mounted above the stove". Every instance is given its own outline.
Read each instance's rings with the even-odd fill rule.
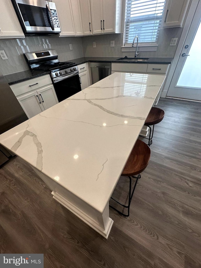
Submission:
[[[24,34],[60,33],[56,5],[45,0],[12,0]]]

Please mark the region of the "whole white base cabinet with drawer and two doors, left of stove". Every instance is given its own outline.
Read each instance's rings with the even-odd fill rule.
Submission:
[[[49,74],[10,85],[10,87],[28,118],[58,103]]]

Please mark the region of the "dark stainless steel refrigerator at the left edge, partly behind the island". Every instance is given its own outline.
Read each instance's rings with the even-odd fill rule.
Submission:
[[[28,118],[4,76],[0,73],[0,134]],[[0,145],[0,166],[8,161],[12,153]]]

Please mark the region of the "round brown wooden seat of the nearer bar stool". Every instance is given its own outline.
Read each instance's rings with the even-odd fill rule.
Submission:
[[[134,176],[141,173],[149,163],[150,154],[149,146],[138,139],[122,171],[122,176]]]

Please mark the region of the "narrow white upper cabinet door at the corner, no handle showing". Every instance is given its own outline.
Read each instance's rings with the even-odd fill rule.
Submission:
[[[72,11],[73,11],[75,34],[76,34],[76,36],[83,36],[82,19],[81,19],[79,0],[71,1],[71,6],[72,6]]]

